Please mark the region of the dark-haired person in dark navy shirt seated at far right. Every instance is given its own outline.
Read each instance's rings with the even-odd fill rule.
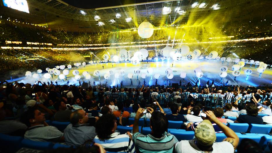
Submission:
[[[246,106],[247,114],[240,115],[234,123],[248,123],[248,124],[264,124],[261,116],[258,116],[258,108],[256,105],[249,103]]]

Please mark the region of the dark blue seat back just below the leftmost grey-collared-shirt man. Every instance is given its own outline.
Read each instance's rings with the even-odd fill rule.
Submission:
[[[28,139],[24,139],[21,143],[22,143],[22,147],[37,149],[37,150],[50,150],[54,146],[52,142],[38,142],[38,141],[32,141]]]

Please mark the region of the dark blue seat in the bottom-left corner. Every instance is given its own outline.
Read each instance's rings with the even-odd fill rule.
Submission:
[[[0,152],[16,152],[18,151],[22,145],[21,141],[23,137],[18,136],[10,136],[0,133]]]

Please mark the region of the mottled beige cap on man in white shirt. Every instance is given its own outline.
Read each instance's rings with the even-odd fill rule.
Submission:
[[[195,139],[203,146],[211,146],[216,140],[215,130],[209,120],[203,120],[195,127]]]

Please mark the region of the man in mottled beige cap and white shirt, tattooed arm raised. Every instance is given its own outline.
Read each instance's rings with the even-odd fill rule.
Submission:
[[[203,120],[195,128],[195,139],[181,140],[176,143],[174,148],[176,153],[230,153],[234,152],[239,143],[239,137],[235,132],[221,123],[213,114],[208,110],[205,112],[209,120]],[[227,136],[222,142],[214,142],[216,140],[215,130],[212,123],[217,124],[224,134]]]

